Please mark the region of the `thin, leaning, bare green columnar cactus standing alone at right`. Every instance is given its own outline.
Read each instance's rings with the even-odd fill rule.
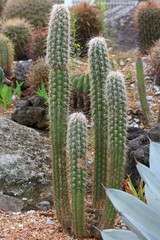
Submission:
[[[145,82],[144,82],[144,72],[143,72],[143,63],[141,58],[137,59],[136,62],[136,71],[137,71],[137,83],[138,83],[138,93],[141,101],[141,107],[143,113],[146,117],[147,123],[149,123],[152,119],[149,106],[146,99],[146,89],[145,89]]]

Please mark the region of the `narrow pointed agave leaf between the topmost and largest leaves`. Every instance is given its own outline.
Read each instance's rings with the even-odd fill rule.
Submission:
[[[145,184],[149,187],[151,192],[155,195],[155,198],[160,201],[160,179],[145,165],[138,163],[137,170],[145,182]]]

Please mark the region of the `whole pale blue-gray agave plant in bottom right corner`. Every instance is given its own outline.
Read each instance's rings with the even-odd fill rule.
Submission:
[[[150,143],[150,168],[137,163],[137,169],[145,182],[147,204],[117,189],[106,189],[107,196],[120,213],[122,221],[131,229],[102,230],[104,240],[158,240],[160,236],[160,144]]]

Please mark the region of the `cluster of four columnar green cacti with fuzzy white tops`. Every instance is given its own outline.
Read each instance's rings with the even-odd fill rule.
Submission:
[[[54,5],[47,38],[54,200],[59,221],[67,229],[71,228],[76,238],[83,239],[93,236],[94,230],[92,228],[91,233],[88,223],[95,223],[97,211],[100,213],[100,226],[107,227],[114,221],[112,207],[109,204],[105,207],[102,184],[121,186],[125,158],[126,93],[122,75],[109,74],[110,61],[105,39],[92,39],[89,43],[89,79],[95,159],[93,189],[88,193],[86,117],[82,113],[73,113],[68,118],[69,42],[69,12],[64,5]],[[84,90],[84,76],[86,74],[78,80],[78,85],[75,81],[79,91]],[[107,209],[107,214],[103,215],[104,209]]]

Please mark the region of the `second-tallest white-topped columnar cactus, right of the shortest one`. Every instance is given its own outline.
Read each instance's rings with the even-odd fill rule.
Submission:
[[[91,107],[95,129],[94,160],[94,204],[99,205],[105,194],[102,183],[107,180],[107,115],[105,103],[105,82],[109,72],[109,59],[106,42],[102,37],[89,42],[89,68],[91,75]]]

